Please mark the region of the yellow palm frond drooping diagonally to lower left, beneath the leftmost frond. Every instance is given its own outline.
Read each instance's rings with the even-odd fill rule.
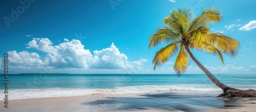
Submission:
[[[160,66],[164,62],[168,60],[170,56],[173,56],[174,54],[177,53],[178,51],[178,41],[175,41],[173,43],[168,44],[168,46],[161,48],[155,55],[153,59],[154,65],[154,70],[156,69],[157,66]]]

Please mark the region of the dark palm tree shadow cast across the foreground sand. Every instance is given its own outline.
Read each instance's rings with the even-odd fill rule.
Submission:
[[[109,97],[103,100],[84,102],[81,105],[89,105],[97,108],[97,111],[116,110],[147,110],[149,108],[160,110],[200,111],[207,108],[238,107],[232,104],[234,100],[222,99],[213,96],[177,95],[175,93],[145,94],[140,97]]]

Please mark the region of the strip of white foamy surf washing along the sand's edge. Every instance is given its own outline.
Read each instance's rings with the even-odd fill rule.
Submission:
[[[245,88],[244,88],[245,89]],[[187,85],[141,85],[141,86],[121,86],[109,89],[102,88],[42,88],[42,89],[10,89],[8,91],[9,100],[30,99],[30,98],[51,98],[51,97],[72,97],[86,95],[103,94],[139,94],[159,91],[195,91],[216,93],[221,89],[215,86],[200,84]],[[4,96],[4,92],[0,93]]]

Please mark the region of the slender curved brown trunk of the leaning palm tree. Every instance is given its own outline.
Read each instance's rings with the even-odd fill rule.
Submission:
[[[189,56],[197,63],[197,65],[199,66],[199,68],[201,70],[203,70],[203,72],[209,77],[209,79],[214,82],[214,84],[216,84],[218,87],[220,87],[223,91],[226,91],[226,89],[230,88],[229,86],[221,83],[217,78],[214,77],[214,75],[212,75],[195,57],[194,55],[191,53],[191,51],[189,50],[188,46],[185,46],[186,51],[188,52]]]

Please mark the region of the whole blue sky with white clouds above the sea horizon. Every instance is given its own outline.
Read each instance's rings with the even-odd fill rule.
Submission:
[[[0,70],[8,53],[8,73],[175,74],[176,57],[155,71],[152,60],[161,44],[148,49],[148,39],[164,26],[170,10],[191,8],[195,15],[216,6],[223,20],[210,25],[240,43],[238,56],[192,50],[213,74],[256,73],[256,1],[102,0],[2,1],[0,5]],[[185,74],[203,74],[190,60]]]

